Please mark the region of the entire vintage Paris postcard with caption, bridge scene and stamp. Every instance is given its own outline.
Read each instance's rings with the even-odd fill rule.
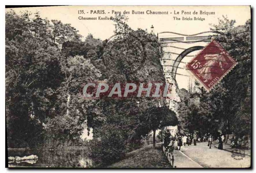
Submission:
[[[6,6],[6,167],[250,168],[251,67],[250,6]]]

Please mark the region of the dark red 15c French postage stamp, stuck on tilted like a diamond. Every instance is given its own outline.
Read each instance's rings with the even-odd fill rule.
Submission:
[[[236,64],[220,43],[213,40],[186,67],[206,90],[211,90]]]

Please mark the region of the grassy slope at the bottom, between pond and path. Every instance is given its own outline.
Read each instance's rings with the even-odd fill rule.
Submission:
[[[171,165],[161,150],[161,144],[156,144],[156,149],[148,145],[127,153],[125,159],[108,168],[171,168]]]

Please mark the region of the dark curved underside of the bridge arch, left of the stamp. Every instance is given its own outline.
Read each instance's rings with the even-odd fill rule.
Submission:
[[[187,56],[189,53],[191,53],[193,51],[201,50],[201,49],[204,49],[204,46],[193,46],[193,47],[190,47],[180,53],[180,55],[175,59],[174,64],[173,64],[173,68],[172,68],[172,78],[173,79],[176,80],[176,73],[177,73],[177,69],[180,64],[180,61],[185,56]]]

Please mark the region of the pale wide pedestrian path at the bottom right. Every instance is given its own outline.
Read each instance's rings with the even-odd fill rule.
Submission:
[[[234,154],[228,150],[219,150],[216,143],[209,149],[208,142],[197,145],[181,146],[174,150],[174,161],[168,158],[172,168],[249,168],[251,156]],[[167,155],[167,154],[166,154]]]

